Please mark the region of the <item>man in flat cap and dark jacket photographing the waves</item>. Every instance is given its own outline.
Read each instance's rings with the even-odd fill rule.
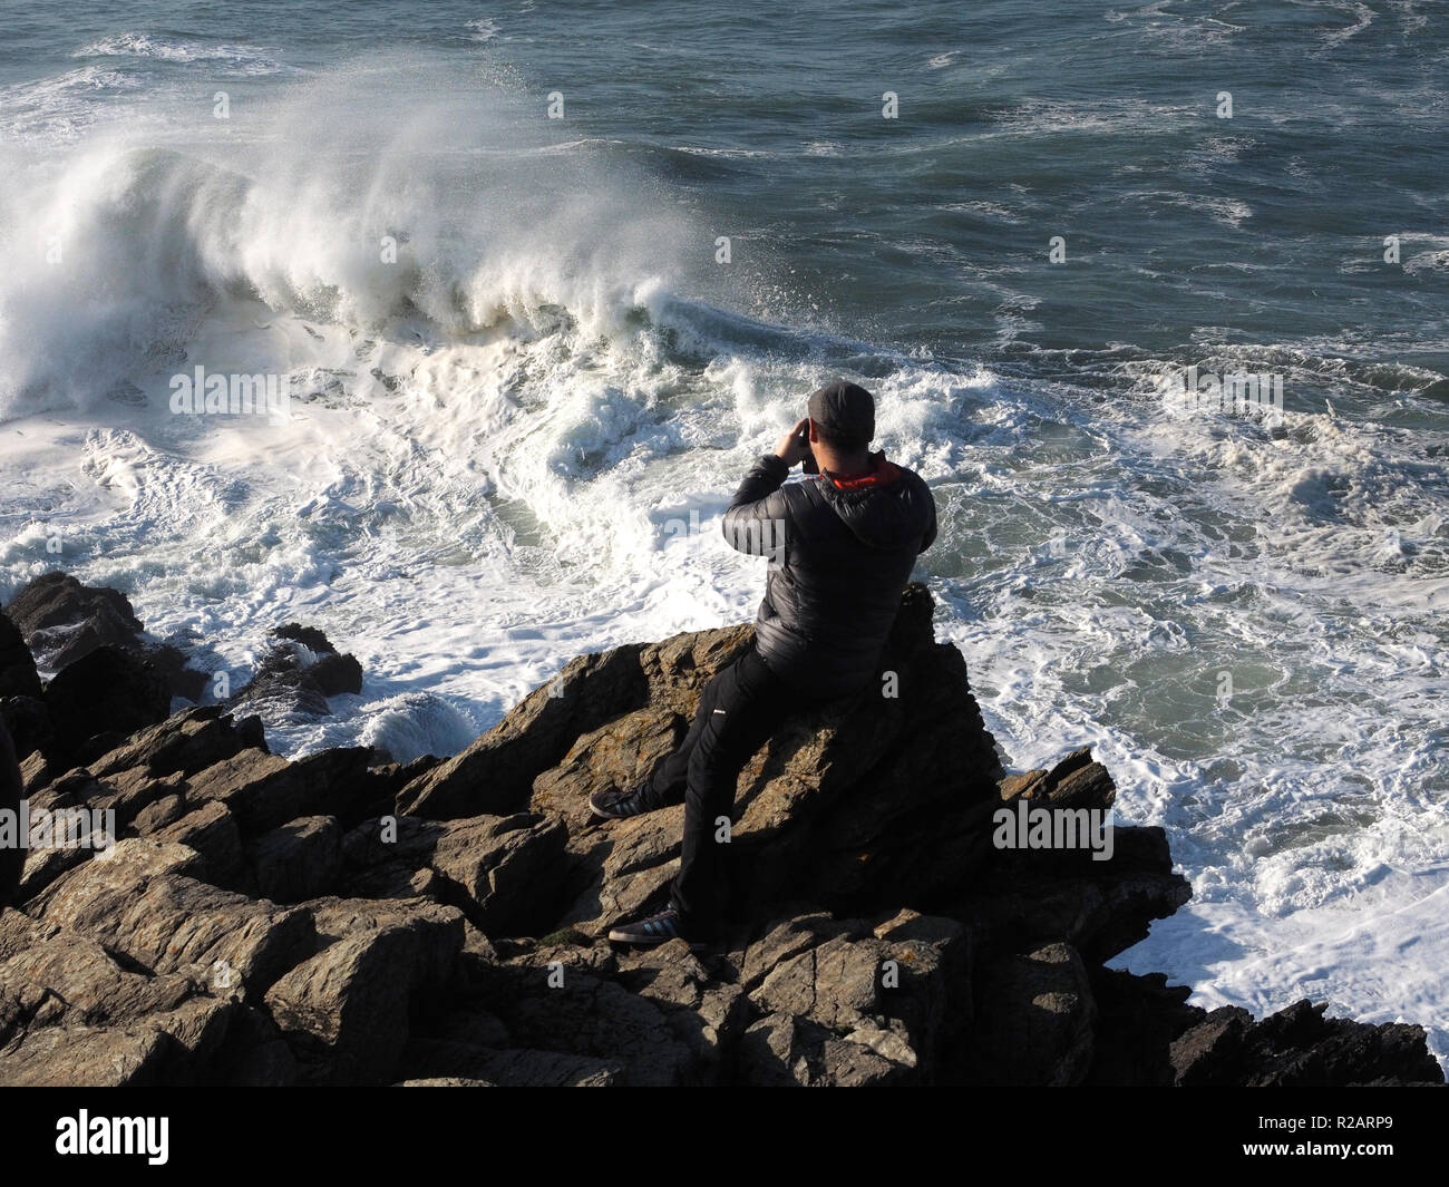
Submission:
[[[835,383],[810,396],[809,412],[755,462],[724,513],[730,546],[771,559],[753,644],[706,686],[682,745],[652,778],[590,800],[609,819],[685,806],[668,907],[611,929],[611,941],[682,938],[701,951],[719,938],[727,846],[716,835],[739,772],[785,717],[872,683],[916,557],[936,538],[926,483],[869,452],[869,391]],[[801,461],[809,477],[785,483]]]

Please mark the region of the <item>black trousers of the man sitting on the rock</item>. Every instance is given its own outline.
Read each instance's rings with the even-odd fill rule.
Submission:
[[[723,919],[729,845],[716,835],[720,817],[733,819],[739,772],[787,717],[824,699],[791,688],[751,645],[704,686],[684,742],[655,768],[653,801],[684,801],[684,846],[669,903],[691,939],[713,939]]]

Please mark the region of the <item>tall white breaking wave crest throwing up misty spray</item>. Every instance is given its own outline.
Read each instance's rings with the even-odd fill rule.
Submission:
[[[678,220],[587,158],[514,146],[496,93],[398,104],[398,72],[287,96],[252,141],[116,133],[58,165],[0,162],[16,178],[0,416],[138,383],[232,297],[365,332],[410,316],[446,335],[548,329],[567,312],[590,336],[664,291]]]

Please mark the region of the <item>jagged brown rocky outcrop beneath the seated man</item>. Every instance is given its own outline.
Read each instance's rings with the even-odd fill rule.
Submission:
[[[30,635],[64,597],[28,596]],[[116,662],[123,607],[85,604],[97,642],[71,664]],[[580,657],[410,767],[291,761],[227,712],[355,686],[304,628],[233,706],[151,722],[97,694],[59,715],[64,742],[22,754],[29,806],[109,810],[122,839],[30,854],[0,913],[0,1083],[1442,1083],[1420,1028],[1206,1013],[1106,968],[1188,897],[1166,838],[1119,826],[1110,859],[1001,848],[1001,809],[1101,813],[1116,788],[1088,751],[1001,768],[922,587],[878,684],[782,723],[742,772],[716,951],[610,945],[667,896],[682,809],[600,823],[588,796],[645,777],[749,641]],[[49,694],[3,629],[0,657],[7,704]]]

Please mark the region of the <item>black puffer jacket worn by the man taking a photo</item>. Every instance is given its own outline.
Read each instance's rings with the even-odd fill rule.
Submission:
[[[755,638],[765,664],[803,691],[862,688],[895,622],[916,557],[936,539],[936,501],[914,471],[871,457],[856,481],[810,475],[767,454],[724,513],[732,548],[769,558]]]

